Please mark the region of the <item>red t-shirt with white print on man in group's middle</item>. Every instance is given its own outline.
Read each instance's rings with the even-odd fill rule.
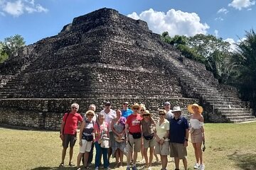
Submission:
[[[126,124],[129,125],[129,132],[134,133],[134,132],[142,132],[141,129],[141,123],[140,121],[142,120],[141,115],[129,115],[126,121]]]

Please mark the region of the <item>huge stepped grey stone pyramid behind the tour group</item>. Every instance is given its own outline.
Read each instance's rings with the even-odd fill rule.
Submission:
[[[146,22],[102,8],[73,19],[50,38],[23,47],[0,65],[0,122],[58,129],[65,109],[103,101],[200,103],[209,122],[256,120],[231,86],[218,84],[203,64],[188,60],[152,33]],[[16,118],[13,122],[11,116]]]

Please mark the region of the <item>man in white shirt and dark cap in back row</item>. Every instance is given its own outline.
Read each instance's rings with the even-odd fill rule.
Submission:
[[[117,118],[117,114],[114,110],[111,108],[110,101],[107,101],[105,103],[105,109],[100,111],[100,114],[104,115],[105,122],[109,125],[109,132],[110,132],[110,148],[108,149],[108,161],[110,162],[110,156],[112,154],[112,143],[114,142],[114,134],[111,129],[111,123],[114,118]]]

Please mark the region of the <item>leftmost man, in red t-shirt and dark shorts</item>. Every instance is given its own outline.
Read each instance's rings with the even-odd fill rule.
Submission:
[[[64,166],[65,154],[67,152],[68,144],[70,144],[70,161],[69,166],[75,166],[72,162],[73,147],[76,141],[76,131],[78,129],[78,122],[82,122],[82,116],[77,113],[79,108],[78,103],[71,105],[71,112],[65,113],[63,121],[60,126],[60,138],[63,140],[63,152],[60,166]]]

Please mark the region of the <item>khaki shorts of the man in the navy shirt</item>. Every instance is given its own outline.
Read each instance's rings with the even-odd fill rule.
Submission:
[[[178,159],[186,159],[187,151],[184,144],[180,143],[170,143],[170,157],[177,157]]]

